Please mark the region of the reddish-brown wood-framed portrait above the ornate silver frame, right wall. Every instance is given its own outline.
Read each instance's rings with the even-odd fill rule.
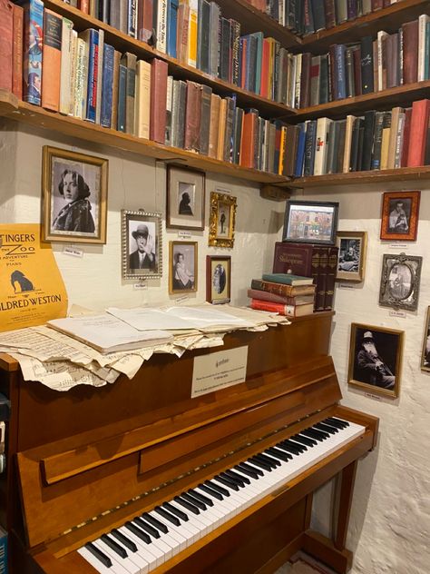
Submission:
[[[414,242],[421,192],[386,192],[382,202],[381,239]]]

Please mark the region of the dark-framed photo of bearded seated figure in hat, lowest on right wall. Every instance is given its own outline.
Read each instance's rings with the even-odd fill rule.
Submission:
[[[352,323],[348,384],[397,397],[403,344],[403,331]]]

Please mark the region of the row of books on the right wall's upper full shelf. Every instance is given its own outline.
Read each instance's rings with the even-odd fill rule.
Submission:
[[[430,17],[421,15],[396,34],[364,36],[359,44],[332,45],[327,54],[298,54],[294,107],[326,104],[430,79]],[[298,82],[299,78],[299,82]]]

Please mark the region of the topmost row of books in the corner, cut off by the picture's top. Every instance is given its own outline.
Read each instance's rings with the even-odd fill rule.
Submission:
[[[314,34],[402,0],[248,0],[298,35]]]

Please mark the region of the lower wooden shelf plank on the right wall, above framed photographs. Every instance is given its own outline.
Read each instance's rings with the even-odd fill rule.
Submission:
[[[370,172],[327,173],[299,177],[288,182],[289,188],[308,189],[332,185],[352,185],[360,183],[402,182],[430,180],[430,165],[402,167],[394,170],[372,170]]]

